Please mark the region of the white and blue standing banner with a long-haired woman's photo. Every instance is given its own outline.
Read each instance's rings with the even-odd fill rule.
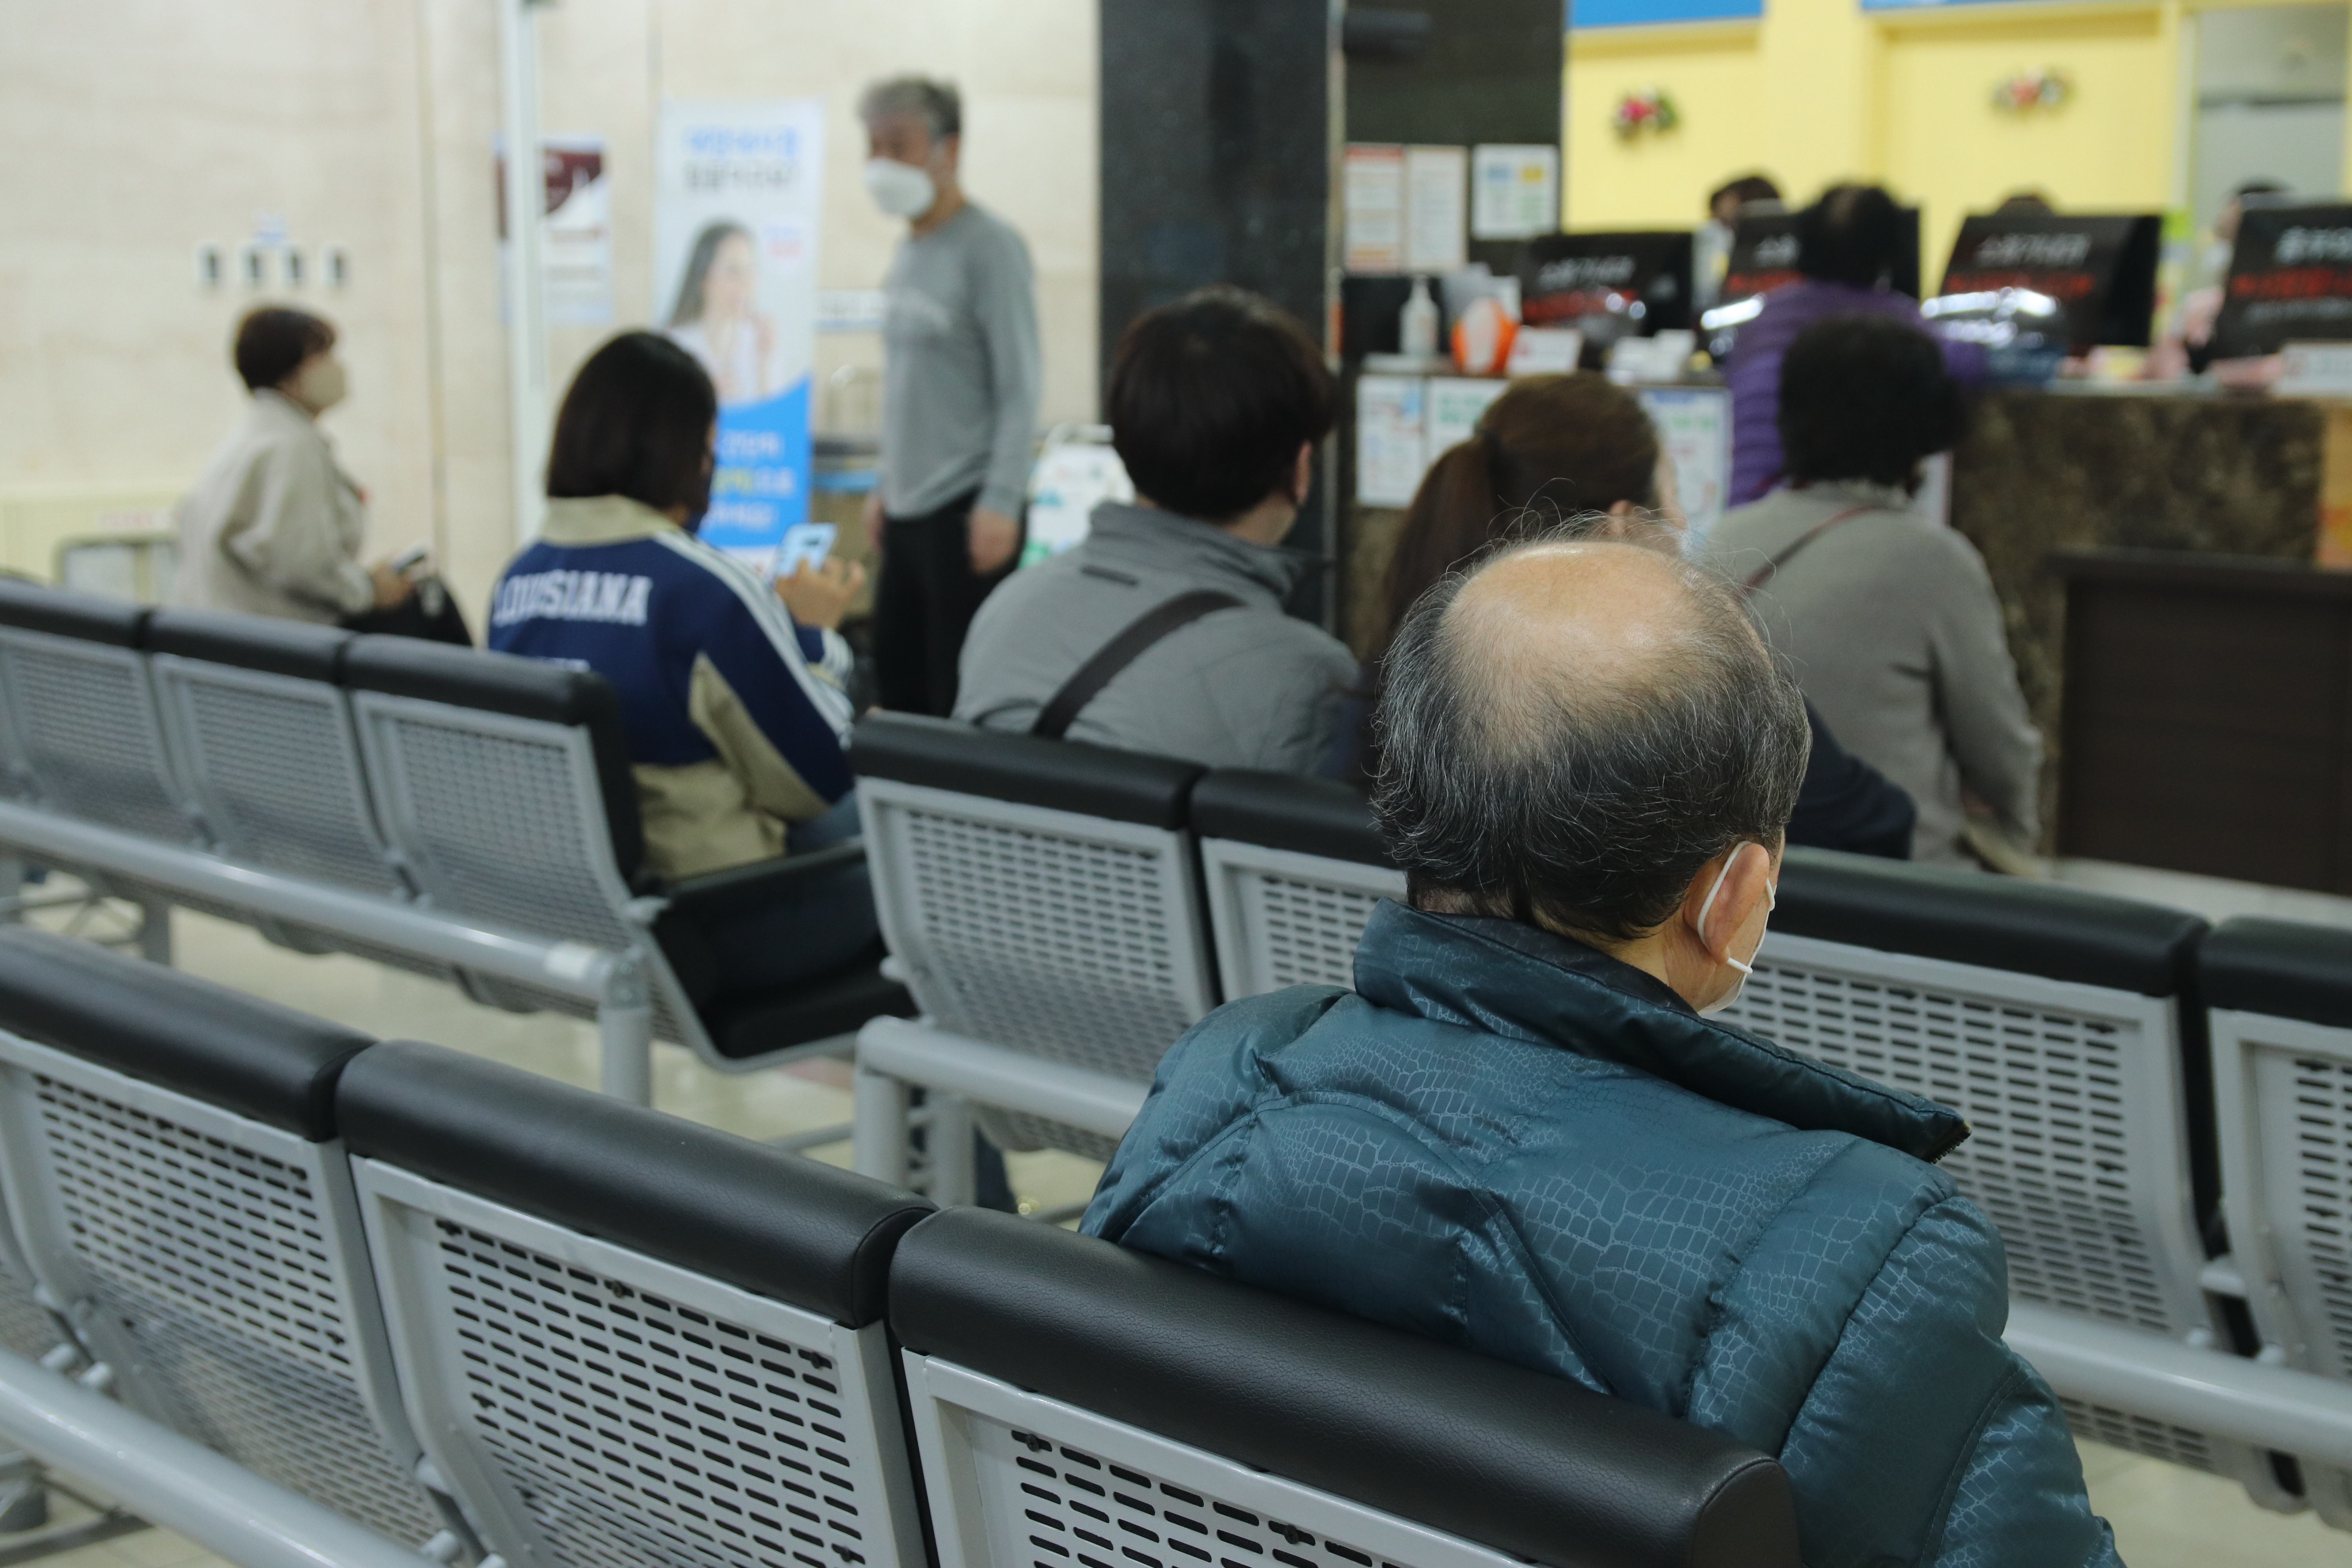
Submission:
[[[762,571],[809,515],[826,106],[663,103],[654,322],[720,393],[703,538]]]

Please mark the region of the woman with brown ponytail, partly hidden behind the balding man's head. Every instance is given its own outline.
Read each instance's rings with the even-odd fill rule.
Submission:
[[[1381,693],[1381,658],[1430,583],[1529,534],[1583,534],[1679,552],[1686,527],[1675,465],[1639,397],[1592,371],[1512,381],[1470,440],[1430,465],[1404,512],[1381,592],[1381,632],[1324,771],[1355,783],[1378,776],[1371,708]],[[1907,858],[1917,818],[1910,795],[1839,748],[1811,705],[1806,717],[1813,757],[1788,842]]]

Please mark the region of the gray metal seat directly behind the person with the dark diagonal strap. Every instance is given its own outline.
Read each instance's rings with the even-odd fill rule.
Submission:
[[[908,1084],[976,1103],[1002,1147],[1108,1159],[1218,1001],[1185,835],[1202,769],[908,715],[861,719],[849,764],[922,1009],[861,1034],[858,1168],[906,1180]]]

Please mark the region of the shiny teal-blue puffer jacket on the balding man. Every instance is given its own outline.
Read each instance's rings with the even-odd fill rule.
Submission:
[[[1512,922],[1383,903],[1355,980],[1176,1041],[1084,1229],[1776,1453],[1811,1568],[2117,1563],[1959,1117]]]

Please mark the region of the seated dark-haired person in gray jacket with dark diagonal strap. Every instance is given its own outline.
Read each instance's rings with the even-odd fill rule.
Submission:
[[[1322,348],[1277,306],[1214,287],[1148,310],[1110,369],[1136,503],[1004,581],[964,639],[955,717],[1207,766],[1310,773],[1355,658],[1284,599],[1282,550],[1331,433]]]

